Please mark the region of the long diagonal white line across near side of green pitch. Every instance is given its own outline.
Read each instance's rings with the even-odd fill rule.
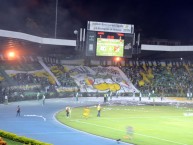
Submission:
[[[119,129],[115,129],[115,128],[111,128],[111,127],[106,127],[106,126],[102,126],[102,125],[98,125],[98,124],[93,124],[93,123],[88,123],[88,122],[83,122],[83,121],[79,121],[79,120],[72,120],[78,123],[84,123],[84,124],[89,124],[89,125],[93,125],[93,126],[98,126],[98,127],[103,127],[103,128],[107,128],[107,129],[111,129],[111,130],[116,130],[116,131],[120,131],[120,132],[124,132],[123,130],[119,130]],[[159,137],[155,137],[155,136],[150,136],[150,135],[144,135],[144,134],[140,134],[140,133],[134,133],[140,136],[144,136],[144,137],[148,137],[148,138],[153,138],[153,139],[157,139],[157,140],[161,140],[161,141],[165,141],[165,142],[171,142],[174,144],[179,144],[179,145],[186,145],[184,143],[180,143],[180,142],[175,142],[172,140],[167,140],[167,139],[163,139],[163,138],[159,138]]]

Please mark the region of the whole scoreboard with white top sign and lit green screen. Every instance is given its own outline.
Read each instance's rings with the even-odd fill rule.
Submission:
[[[88,22],[86,56],[131,57],[134,26]]]

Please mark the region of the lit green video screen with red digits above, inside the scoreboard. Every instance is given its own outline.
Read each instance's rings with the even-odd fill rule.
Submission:
[[[98,32],[96,56],[119,56],[123,57],[124,34]]]

